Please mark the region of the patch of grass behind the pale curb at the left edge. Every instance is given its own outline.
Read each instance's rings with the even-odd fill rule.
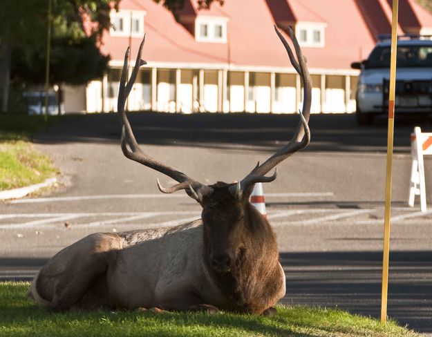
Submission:
[[[0,191],[43,182],[57,173],[51,160],[29,139],[62,116],[0,114]]]

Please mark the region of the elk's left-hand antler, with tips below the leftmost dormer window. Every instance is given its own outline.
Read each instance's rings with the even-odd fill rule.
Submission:
[[[122,124],[122,151],[123,154],[131,160],[135,162],[139,162],[149,168],[153,168],[153,170],[159,171],[165,175],[168,175],[173,180],[176,180],[179,184],[171,186],[169,189],[165,189],[160,185],[158,180],[159,190],[163,193],[173,193],[175,191],[180,191],[184,189],[189,195],[189,197],[194,198],[198,202],[203,200],[203,197],[209,193],[212,193],[213,189],[209,186],[201,184],[196,180],[191,179],[185,173],[177,171],[174,168],[171,168],[165,164],[158,162],[153,159],[149,155],[146,155],[138,145],[138,142],[133,135],[131,124],[129,124],[129,120],[126,117],[126,113],[124,111],[124,105],[126,103],[126,99],[131,92],[132,86],[135,82],[135,79],[138,75],[138,70],[140,70],[140,66],[147,64],[146,61],[141,59],[142,47],[144,46],[145,35],[140,44],[140,48],[138,49],[138,55],[135,62],[135,66],[133,67],[131,78],[126,84],[126,73],[129,68],[129,47],[126,50],[126,54],[124,55],[124,64],[122,69],[122,76],[120,77],[120,88],[118,93],[118,113],[120,117],[120,123]],[[131,151],[128,150],[127,146],[131,148]]]

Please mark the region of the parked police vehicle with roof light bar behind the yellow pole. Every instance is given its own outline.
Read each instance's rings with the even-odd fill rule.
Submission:
[[[397,41],[395,113],[432,113],[432,40],[402,35]],[[391,37],[380,35],[368,59],[354,62],[360,69],[356,117],[360,125],[388,112]]]

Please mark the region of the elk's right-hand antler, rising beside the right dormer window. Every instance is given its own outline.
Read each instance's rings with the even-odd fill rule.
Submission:
[[[241,198],[243,195],[243,191],[246,191],[248,188],[253,186],[256,182],[272,182],[276,179],[277,171],[274,171],[274,174],[270,177],[265,177],[274,166],[282,162],[283,160],[290,157],[290,155],[296,153],[302,148],[308,146],[310,142],[310,131],[308,126],[309,115],[310,115],[310,105],[312,103],[312,79],[310,79],[308,67],[306,66],[306,59],[303,57],[301,53],[301,49],[299,46],[299,42],[297,41],[294,32],[289,27],[288,32],[290,33],[290,38],[292,43],[294,44],[294,50],[297,55],[297,60],[294,58],[294,54],[288,42],[285,40],[281,32],[274,26],[274,30],[276,30],[276,34],[281,39],[283,46],[288,52],[288,57],[290,57],[290,61],[294,69],[299,73],[301,80],[303,81],[303,109],[299,110],[300,113],[300,122],[299,126],[297,126],[297,131],[294,133],[294,136],[286,144],[283,148],[280,148],[279,151],[274,153],[272,157],[268,158],[263,164],[256,165],[256,167],[245,177],[241,182],[238,182],[236,186],[231,186],[230,191],[232,194],[236,195],[237,198]]]

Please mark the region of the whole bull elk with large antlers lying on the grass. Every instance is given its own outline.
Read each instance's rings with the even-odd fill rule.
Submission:
[[[272,182],[266,174],[310,142],[308,119],[311,87],[306,61],[292,30],[297,60],[274,27],[303,81],[303,113],[288,144],[237,183],[205,185],[146,155],[136,142],[124,111],[140,66],[144,39],[131,78],[126,83],[129,48],[120,79],[118,113],[121,147],[135,162],[168,175],[178,184],[162,193],[185,190],[203,208],[202,218],[162,229],[94,233],[59,251],[35,276],[30,297],[42,307],[161,308],[169,311],[219,309],[272,314],[285,295],[285,273],[279,263],[270,224],[249,202],[255,183]]]

